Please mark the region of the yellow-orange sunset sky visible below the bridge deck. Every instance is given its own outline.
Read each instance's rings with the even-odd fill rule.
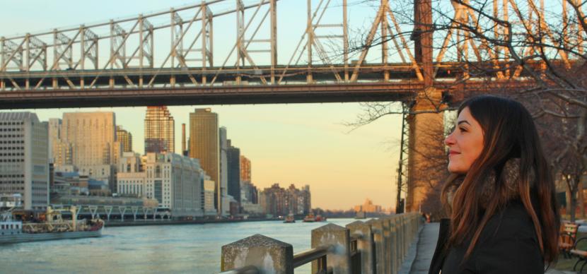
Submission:
[[[397,115],[351,131],[351,127],[343,124],[354,121],[361,113],[361,106],[356,103],[209,107],[219,114],[219,126],[226,126],[228,136],[252,162],[252,183],[259,189],[275,183],[309,184],[313,188],[313,205],[324,209],[347,210],[366,196],[385,208],[395,206],[401,127]],[[189,131],[190,112],[206,107],[168,108],[175,118],[175,136],[179,138],[180,124],[185,123]],[[64,112],[115,112],[117,125],[132,133],[134,152],[144,154],[143,123],[133,121],[144,117],[146,107],[28,111],[37,113],[41,121],[61,117]],[[181,142],[176,140],[175,150],[180,149]],[[311,156],[313,151],[317,154]],[[292,168],[296,165],[299,167]],[[296,172],[298,169],[308,171]],[[373,176],[369,178],[368,174]]]

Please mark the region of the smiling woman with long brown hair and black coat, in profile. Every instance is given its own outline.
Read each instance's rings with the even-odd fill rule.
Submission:
[[[448,178],[429,273],[544,273],[557,258],[554,182],[530,113],[502,97],[460,106],[446,137]]]

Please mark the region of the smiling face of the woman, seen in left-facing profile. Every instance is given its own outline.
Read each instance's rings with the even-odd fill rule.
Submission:
[[[475,120],[469,107],[458,115],[455,131],[444,139],[448,145],[448,171],[464,174],[483,150],[483,129]]]

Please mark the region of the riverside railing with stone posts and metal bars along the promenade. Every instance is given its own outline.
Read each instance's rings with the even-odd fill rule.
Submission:
[[[294,254],[291,244],[255,234],[222,246],[223,274],[286,273],[312,264],[312,273],[399,273],[422,226],[418,213],[327,224],[311,232],[311,249]]]

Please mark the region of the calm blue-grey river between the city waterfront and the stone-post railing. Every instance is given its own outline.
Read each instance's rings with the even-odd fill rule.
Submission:
[[[354,219],[330,219],[347,225]],[[0,273],[219,273],[221,246],[263,234],[310,249],[326,222],[280,221],[105,227],[103,237],[0,246]],[[310,265],[296,268],[310,273]]]

